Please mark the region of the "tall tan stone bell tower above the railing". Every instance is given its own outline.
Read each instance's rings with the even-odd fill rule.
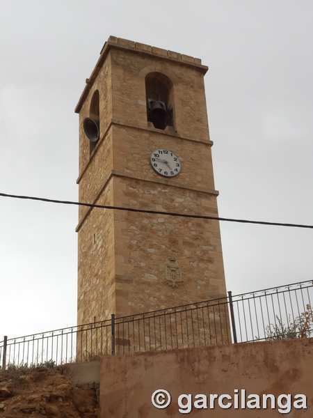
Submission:
[[[75,111],[79,201],[218,215],[200,59],[111,36]],[[225,297],[218,221],[79,208],[78,323]]]

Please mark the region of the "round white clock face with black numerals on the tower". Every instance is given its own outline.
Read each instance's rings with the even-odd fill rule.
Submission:
[[[177,155],[170,150],[159,148],[150,155],[152,169],[165,177],[174,177],[181,170],[181,164]]]

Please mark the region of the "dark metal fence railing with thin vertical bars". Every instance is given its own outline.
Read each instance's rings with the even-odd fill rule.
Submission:
[[[310,336],[313,281],[104,320],[0,342],[0,366]]]

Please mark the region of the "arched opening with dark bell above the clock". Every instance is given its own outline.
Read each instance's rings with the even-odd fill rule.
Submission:
[[[173,93],[171,80],[161,72],[150,72],[145,77],[147,121],[157,129],[174,127]]]

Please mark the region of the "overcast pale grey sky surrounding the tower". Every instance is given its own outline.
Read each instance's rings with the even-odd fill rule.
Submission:
[[[313,224],[310,0],[0,0],[0,192],[78,200],[110,35],[202,59],[221,217]],[[75,325],[77,207],[0,197],[0,341]],[[227,290],[312,279],[312,229],[220,224]]]

